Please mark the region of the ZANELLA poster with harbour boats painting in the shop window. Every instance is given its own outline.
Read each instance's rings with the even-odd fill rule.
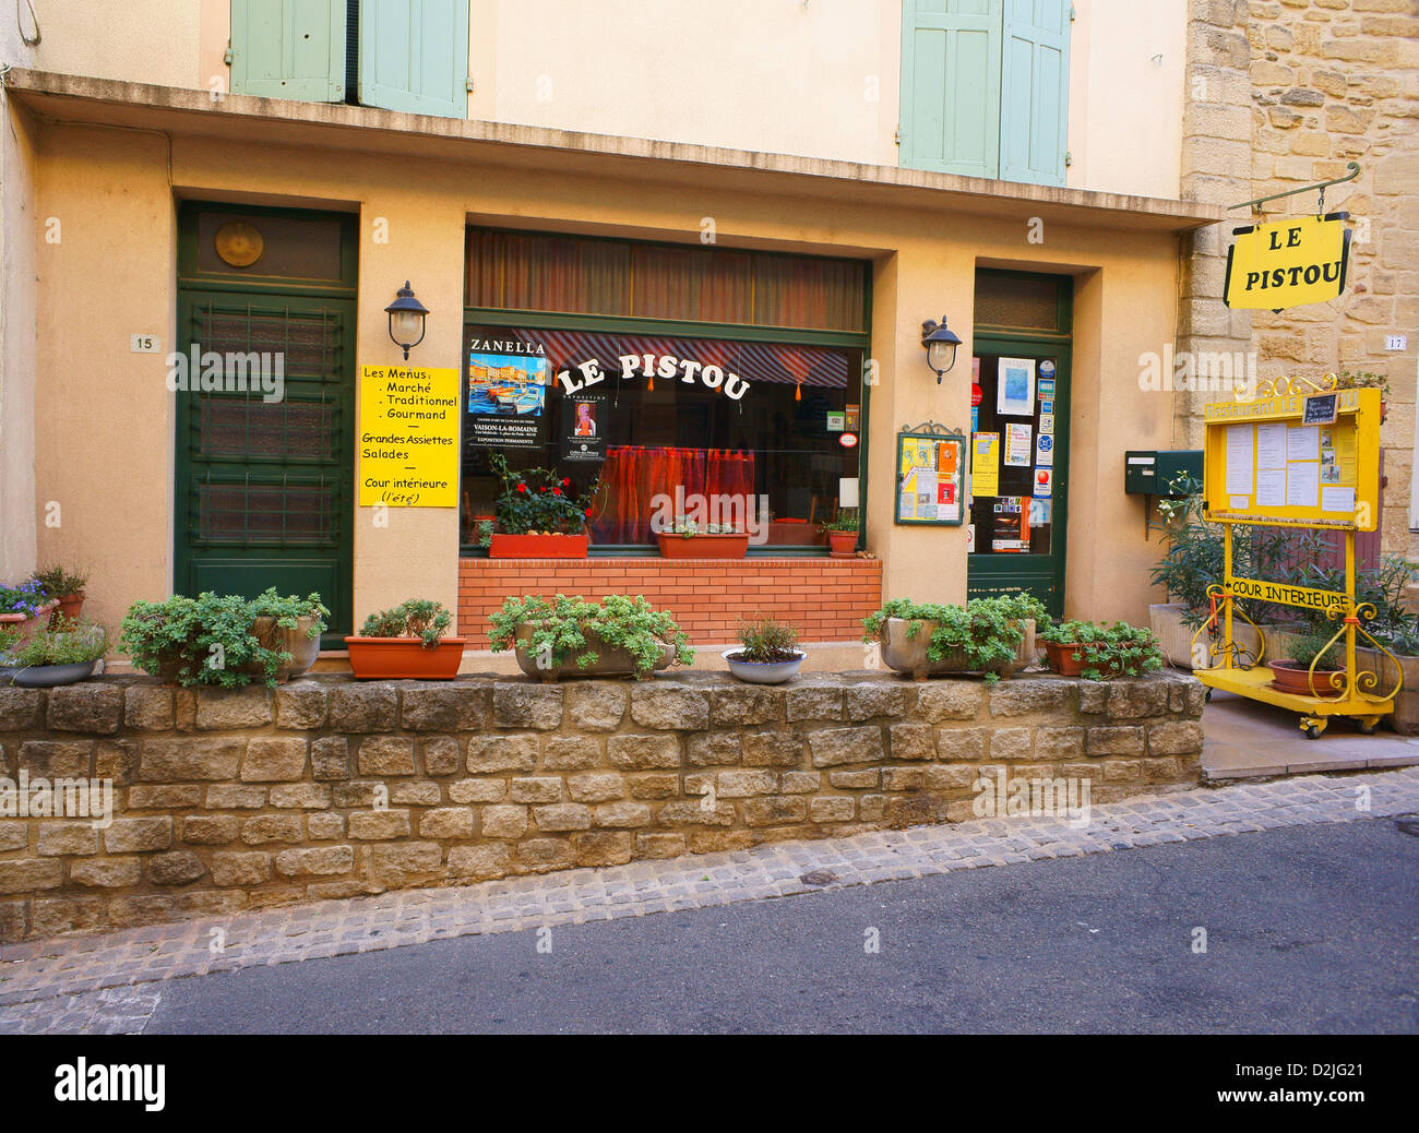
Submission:
[[[541,444],[548,389],[546,351],[512,335],[470,336],[468,440],[512,449]]]

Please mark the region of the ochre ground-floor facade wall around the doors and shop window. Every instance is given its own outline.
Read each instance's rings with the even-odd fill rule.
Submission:
[[[1078,281],[1074,345],[1067,612],[1147,615],[1141,503],[1122,494],[1122,451],[1171,447],[1171,402],[1138,390],[1138,355],[1172,335],[1176,243],[1168,234],[1051,223],[1026,239],[1015,219],[954,217],[822,197],[718,187],[705,168],[692,186],[656,183],[647,163],[624,176],[548,176],[514,165],[474,168],[434,158],[238,145],[143,131],[40,126],[40,217],[64,239],[40,244],[37,496],[64,522],[40,527],[38,559],[91,568],[92,613],[114,625],[129,602],[172,585],[173,396],[159,355],[129,354],[129,335],[175,341],[175,202],[335,207],[360,217],[359,355],[397,359],[385,305],[410,278],[431,308],[412,362],[457,366],[461,351],[464,226],[502,223],[698,243],[712,216],[721,244],[856,254],[874,263],[867,542],[884,559],[884,592],[920,601],[965,596],[964,528],[891,522],[895,433],[934,419],[966,429],[973,275],[978,266],[1067,271]],[[1002,209],[1006,206],[1002,206]],[[387,243],[375,239],[387,221]],[[920,345],[921,322],[948,315],[966,339],[938,388]],[[392,511],[355,527],[355,620],[412,595],[457,601],[457,513]]]

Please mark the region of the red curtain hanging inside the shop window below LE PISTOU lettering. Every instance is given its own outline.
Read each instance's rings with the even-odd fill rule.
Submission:
[[[753,453],[725,449],[670,449],[612,446],[602,466],[603,504],[592,525],[596,542],[654,542],[650,520],[656,497],[670,500],[667,514],[674,518],[690,497],[700,496],[710,507],[710,497],[732,497],[728,514],[705,514],[702,522],[745,522],[753,501]],[[677,488],[680,494],[677,494]],[[739,503],[742,501],[742,503]],[[690,518],[700,518],[691,514]]]

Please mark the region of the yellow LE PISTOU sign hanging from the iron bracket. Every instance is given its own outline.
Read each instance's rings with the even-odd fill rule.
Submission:
[[[1227,251],[1227,307],[1284,311],[1325,302],[1345,290],[1345,213],[1303,216],[1237,229]]]

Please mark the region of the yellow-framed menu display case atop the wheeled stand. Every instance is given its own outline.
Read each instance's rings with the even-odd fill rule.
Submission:
[[[1284,378],[1261,392],[1206,407],[1205,518],[1374,531],[1381,392]]]

